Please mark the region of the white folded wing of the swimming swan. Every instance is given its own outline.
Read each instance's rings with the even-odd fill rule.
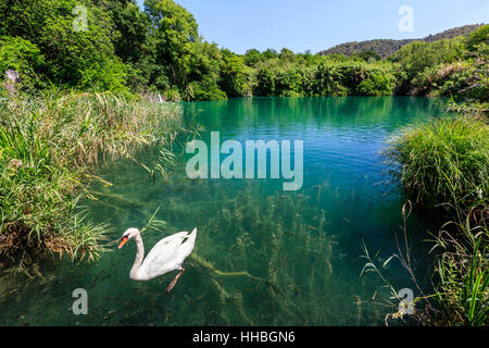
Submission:
[[[178,266],[178,247],[186,237],[187,232],[180,232],[156,243],[141,264],[148,277],[156,277]]]

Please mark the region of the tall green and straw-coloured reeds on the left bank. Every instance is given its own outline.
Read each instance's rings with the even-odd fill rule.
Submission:
[[[113,94],[17,96],[0,103],[0,260],[47,251],[97,258],[104,225],[75,212],[100,161],[167,146],[176,104]]]

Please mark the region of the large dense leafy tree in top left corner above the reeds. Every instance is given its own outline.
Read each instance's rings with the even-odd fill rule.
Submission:
[[[79,7],[84,8],[76,11]],[[112,64],[118,58],[112,44],[113,22],[105,10],[104,2],[95,5],[88,0],[7,0],[0,2],[0,34],[22,37],[39,48],[45,61],[39,83],[79,86],[83,76],[91,75],[93,82],[109,69],[115,73],[112,76],[122,78],[114,80],[122,86],[125,66]]]

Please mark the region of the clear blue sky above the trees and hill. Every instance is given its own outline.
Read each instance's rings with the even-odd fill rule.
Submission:
[[[137,0],[142,4],[143,0]],[[466,24],[489,23],[489,0],[176,0],[199,32],[236,53],[250,48],[316,53],[338,44],[419,38]],[[413,32],[398,27],[413,9]]]

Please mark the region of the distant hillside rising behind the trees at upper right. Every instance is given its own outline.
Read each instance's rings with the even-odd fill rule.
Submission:
[[[405,39],[405,40],[392,40],[392,39],[378,39],[378,40],[368,40],[368,41],[361,41],[361,42],[347,42],[341,44],[338,46],[335,46],[330,49],[327,49],[325,51],[321,51],[318,54],[326,55],[326,54],[344,54],[344,55],[352,55],[354,53],[360,53],[363,51],[372,50],[378,54],[380,54],[383,58],[386,58],[388,55],[391,55],[396,53],[401,47],[404,45],[408,45],[413,41],[438,41],[443,39],[452,39],[457,36],[467,36],[474,30],[478,29],[484,24],[474,24],[474,25],[465,25],[457,28],[449,29],[443,33],[437,34],[437,35],[430,35],[425,38],[421,39]]]

